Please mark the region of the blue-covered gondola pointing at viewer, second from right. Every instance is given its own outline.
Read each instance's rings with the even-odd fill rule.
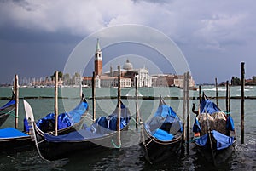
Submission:
[[[168,157],[177,157],[182,143],[183,124],[172,107],[160,96],[154,117],[143,123],[141,147],[150,163],[161,162]]]

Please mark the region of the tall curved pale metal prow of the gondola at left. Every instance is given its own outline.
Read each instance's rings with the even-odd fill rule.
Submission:
[[[40,148],[38,146],[38,140],[37,140],[37,135],[36,135],[36,131],[35,131],[35,121],[34,121],[34,115],[32,112],[32,107],[31,107],[31,105],[29,105],[29,103],[26,100],[23,100],[23,103],[24,103],[24,109],[25,109],[25,113],[26,113],[26,120],[27,120],[27,123],[29,126],[29,134],[31,136],[32,141],[35,142],[35,145],[36,145],[37,151],[38,151],[38,155],[45,161],[49,161],[42,156]]]

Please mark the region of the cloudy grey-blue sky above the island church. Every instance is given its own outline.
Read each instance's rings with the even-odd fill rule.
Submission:
[[[0,83],[12,83],[15,74],[20,78],[46,77],[54,71],[65,71],[73,50],[86,37],[122,25],[147,26],[169,37],[187,61],[195,83],[214,83],[215,77],[219,83],[232,76],[241,77],[241,61],[245,62],[246,78],[251,78],[256,75],[255,3],[253,0],[0,0]],[[104,37],[98,38],[100,43],[104,42]],[[96,37],[94,40],[92,44],[96,47]],[[161,59],[162,54],[143,46],[137,46],[136,50],[134,44],[112,44],[102,47],[102,55],[104,68],[115,65],[113,59],[123,60],[120,60],[123,65],[130,58],[134,67],[146,66],[150,74],[173,71],[165,60],[155,60]],[[106,60],[104,56],[112,57]],[[91,75],[91,57],[84,56],[90,62],[84,71],[78,71],[82,75]],[[143,60],[134,61],[137,58]]]

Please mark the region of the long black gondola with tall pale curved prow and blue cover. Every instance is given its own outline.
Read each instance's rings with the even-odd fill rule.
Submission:
[[[98,117],[90,126],[83,124],[83,128],[68,134],[53,135],[39,133],[35,124],[31,106],[24,100],[26,116],[30,118],[32,134],[35,137],[35,144],[40,157],[46,160],[56,160],[69,157],[76,152],[89,152],[97,148],[119,148],[117,142],[117,114],[119,108],[113,111],[108,117]],[[125,134],[131,120],[130,111],[121,103],[120,111],[120,133]],[[40,140],[40,141],[38,141]]]

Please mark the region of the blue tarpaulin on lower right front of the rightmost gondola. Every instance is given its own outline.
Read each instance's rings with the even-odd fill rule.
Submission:
[[[217,141],[217,150],[229,147],[230,145],[233,144],[234,141],[234,137],[229,137],[215,130],[212,130],[212,136]]]

